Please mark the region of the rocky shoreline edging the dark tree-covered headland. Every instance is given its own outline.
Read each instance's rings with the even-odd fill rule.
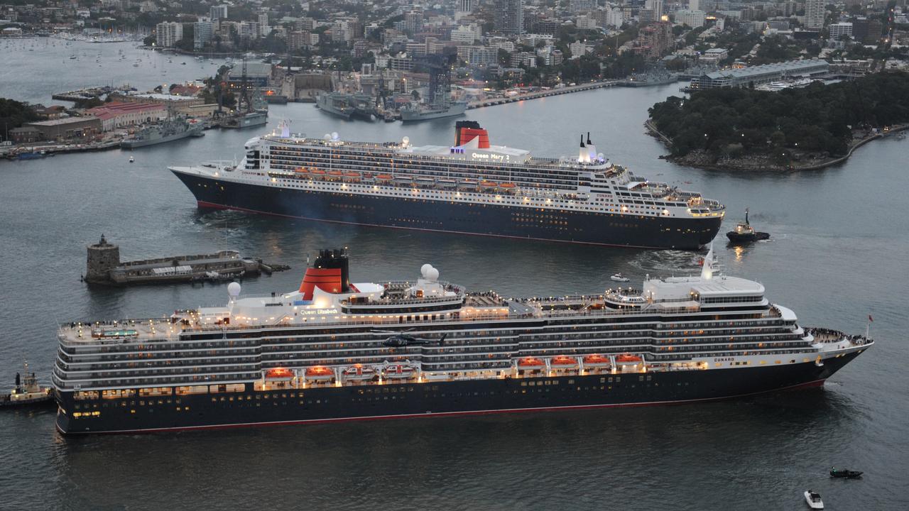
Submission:
[[[656,129],[656,126],[654,126],[654,124],[651,123],[649,119],[644,121],[644,126],[647,128],[647,131],[650,135],[654,135],[654,137],[659,139],[664,145],[672,145],[672,139],[660,133],[660,131]],[[704,150],[692,151],[691,153],[688,153],[684,156],[660,155],[660,158],[679,165],[694,166],[697,168],[703,168],[705,170],[735,170],[746,172],[796,172],[802,170],[817,170],[844,162],[849,156],[853,154],[853,151],[855,149],[858,149],[862,145],[865,145],[872,140],[884,138],[886,135],[892,135],[906,129],[909,129],[909,125],[898,125],[893,126],[887,133],[878,132],[871,135],[866,135],[860,139],[855,139],[853,141],[853,144],[849,146],[849,151],[842,156],[830,157],[829,155],[816,153],[795,155],[796,158],[794,161],[791,161],[788,165],[780,165],[774,161],[774,158],[771,155],[716,157],[714,155],[710,155]]]

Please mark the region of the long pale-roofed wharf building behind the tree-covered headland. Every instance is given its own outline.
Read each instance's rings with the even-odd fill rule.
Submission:
[[[754,87],[786,78],[811,78],[826,75],[830,65],[820,59],[794,60],[777,64],[754,65],[740,69],[723,69],[692,79],[691,90],[721,87]]]

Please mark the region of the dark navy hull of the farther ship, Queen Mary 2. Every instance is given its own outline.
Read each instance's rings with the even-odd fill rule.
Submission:
[[[714,239],[722,218],[666,218],[581,211],[536,211],[295,188],[237,184],[174,171],[200,207],[236,209],[323,222],[594,245],[696,250]]]

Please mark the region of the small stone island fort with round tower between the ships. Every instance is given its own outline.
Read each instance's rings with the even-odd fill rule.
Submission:
[[[87,249],[83,280],[89,284],[108,286],[219,282],[290,268],[266,265],[262,259],[242,257],[236,250],[124,262],[120,261],[120,247],[109,243],[105,235],[101,235],[101,240],[95,245],[88,245]]]

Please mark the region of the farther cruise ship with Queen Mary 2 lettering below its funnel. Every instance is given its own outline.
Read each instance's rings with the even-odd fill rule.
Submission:
[[[576,157],[490,145],[478,124],[454,145],[413,146],[255,137],[239,165],[170,167],[201,207],[597,245],[695,249],[719,230],[724,206],[612,165],[589,134]]]

